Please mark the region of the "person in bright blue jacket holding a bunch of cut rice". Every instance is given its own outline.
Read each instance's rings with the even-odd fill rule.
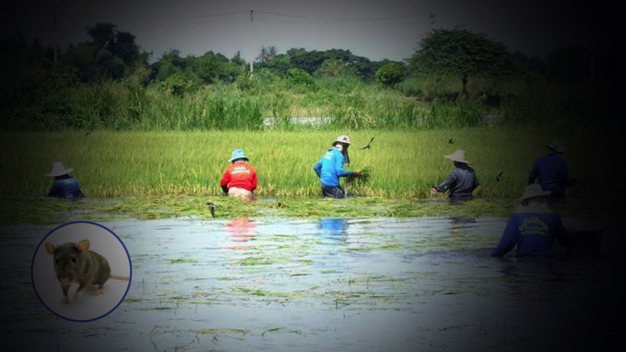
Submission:
[[[341,135],[332,142],[332,148],[326,151],[321,160],[317,162],[313,170],[317,173],[322,185],[322,195],[324,197],[332,197],[341,199],[346,196],[346,192],[339,184],[339,177],[359,177],[359,171],[344,170],[344,163],[349,165],[348,147],[350,146],[350,138]]]

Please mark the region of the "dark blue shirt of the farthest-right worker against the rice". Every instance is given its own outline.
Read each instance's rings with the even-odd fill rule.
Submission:
[[[538,158],[533,165],[528,184],[533,184],[539,177],[538,183],[543,190],[550,190],[553,197],[565,195],[565,186],[568,186],[567,163],[556,153],[550,152]]]

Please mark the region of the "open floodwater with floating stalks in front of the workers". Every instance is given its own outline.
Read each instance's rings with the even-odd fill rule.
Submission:
[[[600,253],[491,258],[506,219],[101,222],[132,261],[125,301],[88,323],[34,294],[51,226],[0,227],[9,346],[42,351],[555,351],[621,331],[623,224]],[[120,284],[110,281],[106,285]],[[105,285],[105,288],[106,288]],[[92,304],[97,297],[84,295]]]

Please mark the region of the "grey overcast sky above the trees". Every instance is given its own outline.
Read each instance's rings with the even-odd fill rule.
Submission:
[[[168,49],[182,56],[212,50],[250,60],[260,46],[349,49],[370,60],[401,61],[433,28],[463,26],[529,56],[562,46],[593,48],[613,26],[611,5],[553,0],[23,0],[0,15],[2,38],[19,28],[28,39],[66,46],[88,39],[86,26],[110,22],[136,36],[156,60]],[[617,4],[617,2],[615,2]],[[563,4],[563,5],[562,5]],[[6,6],[6,5],[5,5]],[[250,16],[250,11],[252,16]],[[56,31],[54,14],[56,14]],[[252,18],[251,18],[252,17]],[[608,39],[607,39],[608,40]]]

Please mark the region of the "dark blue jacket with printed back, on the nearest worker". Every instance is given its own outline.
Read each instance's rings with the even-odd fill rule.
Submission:
[[[565,245],[569,236],[557,214],[514,213],[491,256],[504,256],[517,246],[516,257],[552,257],[557,251],[555,239]]]

